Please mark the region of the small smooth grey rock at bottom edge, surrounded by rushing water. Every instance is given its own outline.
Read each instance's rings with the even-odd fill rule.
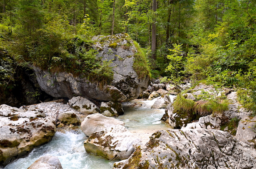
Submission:
[[[62,169],[59,158],[44,156],[36,160],[28,169]]]

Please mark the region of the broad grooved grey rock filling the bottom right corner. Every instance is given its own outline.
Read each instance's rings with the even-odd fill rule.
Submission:
[[[114,168],[256,168],[256,151],[220,130],[160,130],[150,137],[147,147],[137,149],[127,160],[115,163]]]

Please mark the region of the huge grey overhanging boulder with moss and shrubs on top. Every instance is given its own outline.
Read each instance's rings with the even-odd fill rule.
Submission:
[[[136,99],[142,91],[147,89],[150,77],[149,71],[145,69],[143,69],[145,73],[139,71],[141,61],[136,60],[139,54],[129,35],[120,33],[94,39],[97,41],[92,47],[98,50],[97,57],[102,61],[112,61],[110,67],[112,67],[114,76],[110,85],[103,85],[100,88],[96,82],[90,82],[84,74],[75,76],[68,72],[49,73],[47,70],[31,65],[40,88],[57,98],[71,99],[77,95],[105,101]],[[134,63],[136,63],[135,66]]]

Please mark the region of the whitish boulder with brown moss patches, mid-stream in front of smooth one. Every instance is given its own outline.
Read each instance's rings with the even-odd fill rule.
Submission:
[[[108,160],[127,159],[141,140],[122,125],[93,133],[85,142],[87,152]]]

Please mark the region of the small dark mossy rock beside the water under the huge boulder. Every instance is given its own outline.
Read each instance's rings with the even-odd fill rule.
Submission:
[[[101,102],[100,113],[108,117],[117,117],[124,114],[123,106],[119,102]]]

